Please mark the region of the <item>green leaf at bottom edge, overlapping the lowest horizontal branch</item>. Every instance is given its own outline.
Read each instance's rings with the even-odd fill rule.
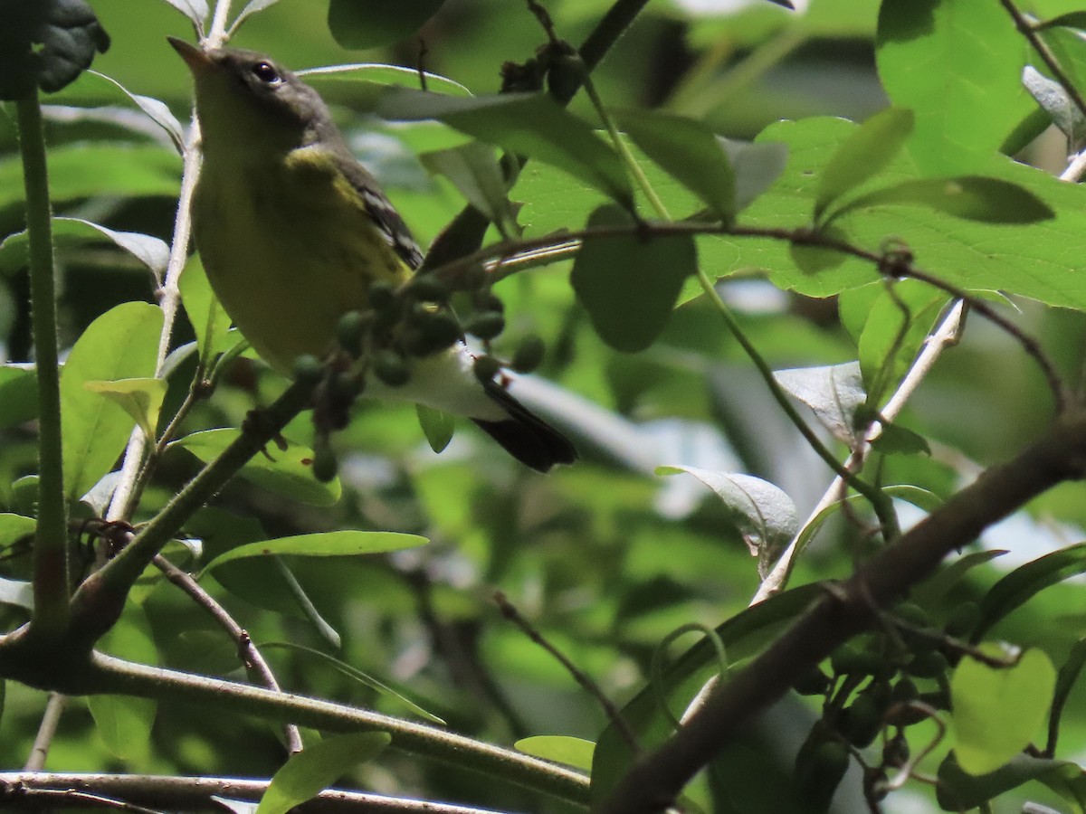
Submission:
[[[390,742],[392,736],[388,733],[352,733],[326,738],[292,754],[272,777],[257,814],[287,814],[359,763],[376,758]]]

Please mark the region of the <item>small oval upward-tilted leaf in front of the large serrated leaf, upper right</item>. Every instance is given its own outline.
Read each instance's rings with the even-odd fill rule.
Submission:
[[[822,170],[815,198],[815,220],[830,204],[886,168],[912,132],[912,111],[901,107],[876,113],[837,148]]]

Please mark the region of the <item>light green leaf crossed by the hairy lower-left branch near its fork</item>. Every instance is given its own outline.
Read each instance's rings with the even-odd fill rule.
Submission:
[[[111,656],[141,664],[157,664],[159,653],[143,608],[125,605],[121,621],[99,643]],[[151,741],[157,703],[134,696],[87,696],[87,707],[99,736],[111,753],[122,760],[142,760]]]

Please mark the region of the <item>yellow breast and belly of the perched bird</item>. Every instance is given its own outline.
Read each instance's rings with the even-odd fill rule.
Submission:
[[[332,346],[336,325],[377,280],[409,276],[333,167],[298,161],[205,162],[193,230],[223,307],[272,367]],[[345,182],[343,182],[345,183]],[[343,194],[346,192],[346,194]]]

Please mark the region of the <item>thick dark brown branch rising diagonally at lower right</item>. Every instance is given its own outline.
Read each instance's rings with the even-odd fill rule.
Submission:
[[[1063,481],[1086,473],[1086,409],[1057,419],[1016,458],[986,470],[940,508],[862,564],[744,670],[733,673],[659,749],[637,761],[601,814],[662,812],[712,756],[798,676],[871,626],[885,608],[955,550]]]

